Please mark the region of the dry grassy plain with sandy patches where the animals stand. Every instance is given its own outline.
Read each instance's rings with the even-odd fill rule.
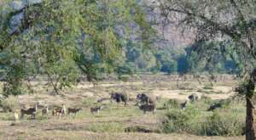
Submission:
[[[54,95],[50,89],[45,90],[42,87],[43,84],[34,81],[32,83],[35,85],[33,87],[34,94],[24,94],[18,98],[10,97],[1,102],[3,111],[0,113],[0,139],[243,139],[242,136],[201,137],[185,133],[186,131],[166,134],[162,130],[161,121],[166,112],[172,110],[163,109],[168,99],[176,98],[178,103],[183,103],[191,93],[196,93],[200,97],[203,95],[203,98],[209,97],[213,100],[229,98],[234,94],[232,87],[236,85],[236,81],[232,78],[225,79],[225,81],[223,79],[218,80],[217,83],[214,83],[214,87],[208,87],[207,79],[201,85],[193,79],[180,81],[177,87],[177,79],[172,76],[143,76],[140,81],[136,82],[133,80],[129,82],[102,81],[96,87],[83,81],[76,87],[63,92],[62,95]],[[98,99],[109,98],[109,93],[113,91],[129,93],[131,96],[129,105],[111,103],[109,100],[97,103]],[[160,98],[157,101],[155,115],[152,113],[143,115],[143,111],[135,106],[136,96],[142,92]],[[28,108],[38,102],[48,104],[49,112],[57,106],[61,107],[61,104],[66,104],[67,108],[82,108],[82,111],[77,115],[65,115],[63,117],[49,115],[48,118],[41,115],[41,109],[39,109],[36,120],[31,120],[29,116],[26,116],[23,120],[14,123],[13,113],[4,110],[9,106],[15,110]],[[201,115],[212,115],[206,111],[207,106],[203,105],[206,102],[207,100],[202,100],[194,104],[193,108],[203,110]],[[90,108],[99,105],[106,107],[101,110],[99,115],[92,115]],[[237,108],[220,109],[219,113],[229,112],[228,110],[241,111],[244,108],[243,104],[237,106]],[[239,114],[242,115],[241,121],[245,118],[243,113],[241,111]],[[128,127],[134,132],[125,132]],[[150,133],[132,129],[136,127],[145,129]]]

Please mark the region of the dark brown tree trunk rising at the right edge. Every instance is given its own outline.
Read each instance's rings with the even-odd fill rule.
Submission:
[[[255,121],[255,109],[253,105],[253,92],[254,84],[252,81],[249,81],[247,84],[247,120],[246,120],[246,139],[247,140],[256,140],[256,121]]]

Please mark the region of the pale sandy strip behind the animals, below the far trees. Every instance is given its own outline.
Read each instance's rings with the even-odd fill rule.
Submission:
[[[36,102],[44,102],[45,104],[73,104],[73,102],[81,102],[83,98],[109,98],[110,92],[127,92],[131,98],[136,98],[138,93],[148,93],[153,95],[154,97],[161,98],[176,98],[178,100],[187,100],[188,96],[192,93],[196,93],[201,97],[201,95],[208,96],[212,99],[224,99],[229,98],[235,93],[232,92],[232,87],[230,86],[214,86],[212,89],[206,90],[203,89],[204,86],[196,86],[193,89],[183,90],[177,89],[177,87],[173,86],[176,83],[172,83],[170,87],[166,87],[161,83],[159,87],[150,87],[147,85],[145,81],[137,81],[137,82],[117,82],[117,83],[100,83],[93,86],[93,84],[89,82],[81,82],[77,86],[64,91],[62,95],[54,95],[53,92],[49,89],[48,92],[45,92],[44,87],[40,85],[38,82],[33,82],[35,87],[33,88],[36,92],[35,94],[25,94],[19,96],[19,102],[23,106],[26,104],[35,104]],[[146,84],[146,85],[145,85]],[[166,84],[166,83],[165,83]],[[139,87],[139,88],[136,88]],[[211,93],[212,92],[212,93]],[[28,106],[29,106],[28,105]]]

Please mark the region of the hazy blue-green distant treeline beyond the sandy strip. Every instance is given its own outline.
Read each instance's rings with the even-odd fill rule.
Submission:
[[[165,72],[166,74],[182,74],[186,72],[210,71],[217,74],[236,74],[239,63],[230,53],[213,53],[213,61],[207,56],[198,55],[194,49],[197,45],[219,47],[218,42],[203,42],[187,48],[165,47],[152,51],[137,48],[138,44],[128,42],[125,51],[125,63],[119,66],[119,73]],[[207,54],[206,54],[207,55]],[[205,57],[201,60],[200,57]]]

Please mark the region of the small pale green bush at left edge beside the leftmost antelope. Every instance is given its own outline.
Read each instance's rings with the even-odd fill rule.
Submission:
[[[12,112],[18,109],[18,105],[18,98],[15,96],[9,96],[9,98],[5,98],[0,102],[0,106],[3,108],[4,112]]]

